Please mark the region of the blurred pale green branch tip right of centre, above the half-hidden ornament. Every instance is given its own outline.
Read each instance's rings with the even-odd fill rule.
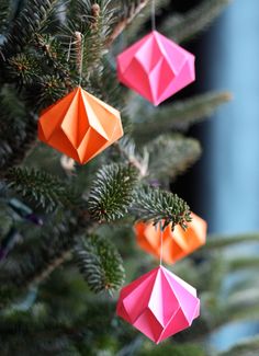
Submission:
[[[198,140],[180,135],[161,135],[146,146],[149,152],[148,172],[151,179],[176,179],[201,156]]]

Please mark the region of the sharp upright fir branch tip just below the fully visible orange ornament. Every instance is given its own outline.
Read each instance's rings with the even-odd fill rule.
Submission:
[[[122,218],[133,202],[137,171],[132,165],[110,164],[101,168],[90,191],[88,209],[98,221]]]

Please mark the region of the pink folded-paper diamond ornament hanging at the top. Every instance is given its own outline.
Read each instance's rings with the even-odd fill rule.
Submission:
[[[119,80],[159,105],[195,80],[194,56],[153,31],[117,56]]]

